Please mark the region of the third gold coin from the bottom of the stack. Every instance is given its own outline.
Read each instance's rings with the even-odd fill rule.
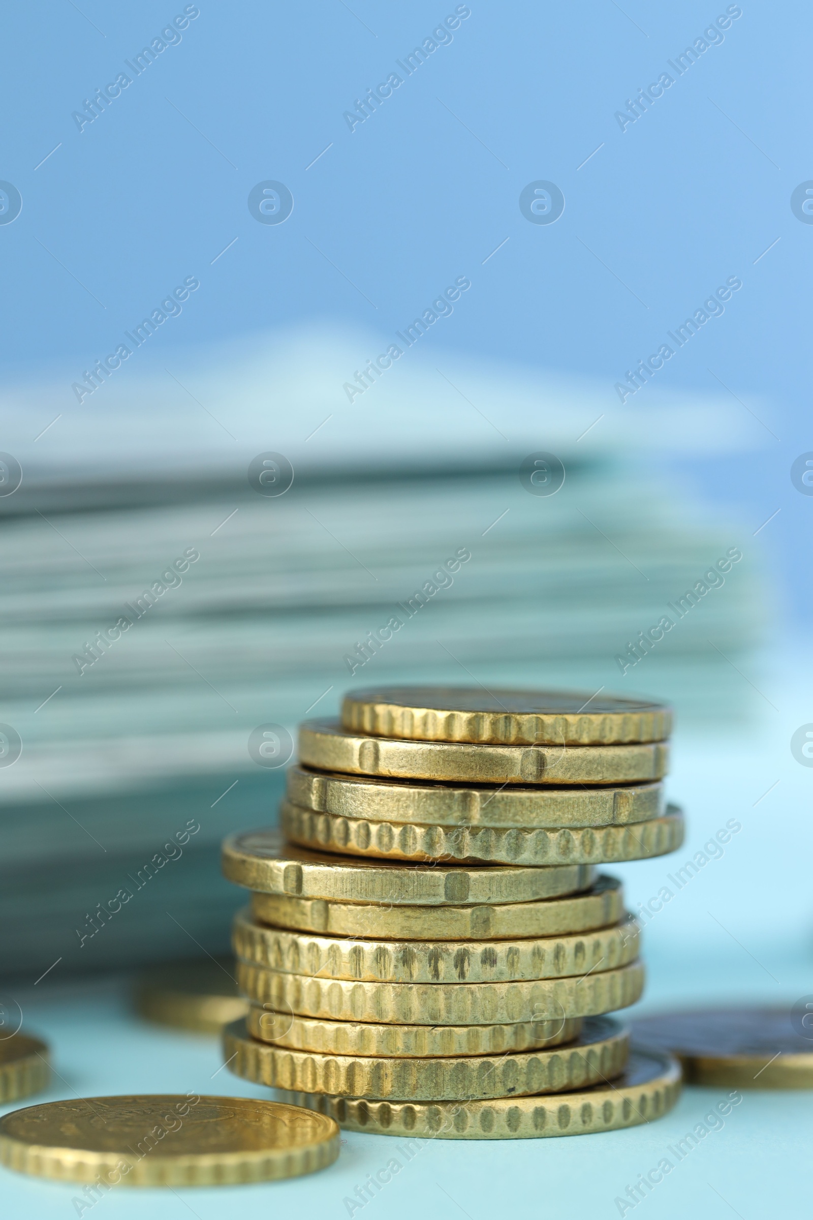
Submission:
[[[573,1042],[580,1016],[512,1025],[375,1025],[372,1021],[321,1021],[252,1004],[246,1026],[252,1038],[291,1050],[325,1055],[431,1059],[438,1055],[503,1055]]]

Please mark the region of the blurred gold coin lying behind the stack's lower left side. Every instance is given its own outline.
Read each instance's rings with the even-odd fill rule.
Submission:
[[[145,974],[135,986],[135,1009],[149,1021],[196,1033],[219,1033],[245,1016],[238,996],[234,959],[178,961]]]

